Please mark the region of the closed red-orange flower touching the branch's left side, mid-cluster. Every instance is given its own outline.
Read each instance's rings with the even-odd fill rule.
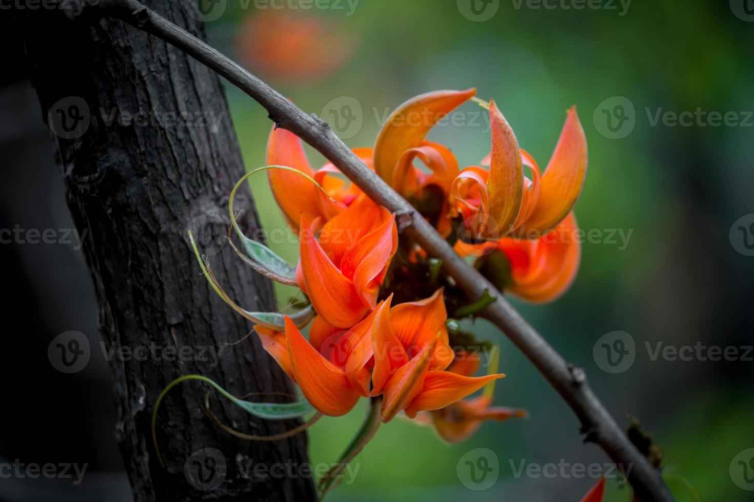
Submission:
[[[319,218],[310,222],[301,214],[296,281],[328,324],[351,327],[375,307],[398,246],[395,215],[385,208],[376,212],[365,216],[360,203],[354,203],[328,222],[320,234],[327,237],[323,244],[314,237]]]

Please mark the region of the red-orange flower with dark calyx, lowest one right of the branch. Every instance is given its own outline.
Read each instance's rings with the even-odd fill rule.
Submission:
[[[501,290],[532,303],[548,303],[568,291],[578,273],[581,242],[576,230],[578,224],[570,212],[539,239],[504,237],[482,245],[457,242],[455,250],[463,256],[480,256],[478,268]],[[508,270],[495,269],[495,262],[489,257],[495,251],[505,255]]]

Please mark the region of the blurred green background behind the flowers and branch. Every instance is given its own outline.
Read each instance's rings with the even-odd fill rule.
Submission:
[[[513,303],[561,354],[587,370],[621,424],[630,414],[651,432],[678,500],[752,500],[729,466],[754,447],[754,363],[652,361],[645,347],[752,345],[754,258],[737,252],[729,237],[734,221],[754,212],[754,23],[742,10],[746,0],[739,3],[633,2],[626,9],[605,1],[593,4],[602,8],[576,10],[566,8],[579,5],[569,0],[547,3],[553,9],[504,0],[487,5],[483,17],[495,11],[488,20],[475,20],[468,0],[465,6],[361,0],[353,10],[353,3],[334,0],[321,4],[330,8],[285,10],[228,2],[207,31],[214,46],[333,123],[354,148],[372,146],[386,111],[412,96],[477,87],[480,97],[498,102],[522,147],[544,169],[566,109],[577,105],[590,150],[579,223],[586,230],[633,233],[627,245],[585,243],[578,279],[562,299],[547,306]],[[262,166],[267,114],[233,87],[227,91],[247,169]],[[618,113],[616,96],[633,105],[633,113],[627,110],[633,129],[627,123],[616,133],[621,137],[611,138],[605,113]],[[353,113],[345,114],[344,104]],[[735,112],[737,125],[654,122],[658,112],[697,108]],[[461,109],[465,117],[481,112],[473,104]],[[430,138],[449,145],[461,166],[476,164],[489,151],[486,123],[477,119],[446,123]],[[314,168],[323,164],[310,154]],[[284,228],[264,175],[252,185],[265,229]],[[278,235],[271,247],[296,260],[296,239],[286,231],[289,237]],[[281,288],[279,302],[291,294]],[[484,424],[457,446],[441,443],[429,428],[394,420],[357,458],[354,482],[329,500],[580,500],[593,485],[595,479],[574,476],[515,475],[522,461],[588,465],[608,459],[597,446],[581,443],[572,412],[501,333],[481,321],[471,328],[501,344],[507,378],[498,383],[496,403],[526,408],[530,418]],[[611,374],[596,364],[593,346],[615,330],[633,337],[636,361]],[[313,462],[336,461],[364,404],[311,429]],[[456,473],[459,459],[479,447],[492,449],[500,466],[498,481],[485,491],[466,488]],[[630,498],[615,479],[608,492],[606,500]]]

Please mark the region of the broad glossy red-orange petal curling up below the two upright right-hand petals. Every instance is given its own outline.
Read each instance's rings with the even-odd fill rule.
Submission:
[[[498,248],[510,261],[511,294],[532,303],[557,300],[573,284],[581,263],[581,242],[573,212],[535,241],[501,239]]]

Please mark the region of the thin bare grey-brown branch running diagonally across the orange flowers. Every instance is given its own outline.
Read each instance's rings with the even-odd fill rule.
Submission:
[[[630,443],[594,395],[584,370],[568,364],[486,278],[453,251],[406,199],[351,152],[328,123],[306,114],[236,62],[136,0],[92,0],[84,8],[84,16],[117,17],[198,59],[259,102],[277,126],[290,130],[316,148],[375,202],[396,213],[400,230],[429,254],[442,260],[446,272],[470,300],[477,300],[485,290],[495,296],[495,303],[487,307],[482,316],[508,336],[568,403],[581,421],[584,440],[599,444],[623,472],[630,472],[628,480],[639,499],[645,502],[673,500],[660,473]]]

